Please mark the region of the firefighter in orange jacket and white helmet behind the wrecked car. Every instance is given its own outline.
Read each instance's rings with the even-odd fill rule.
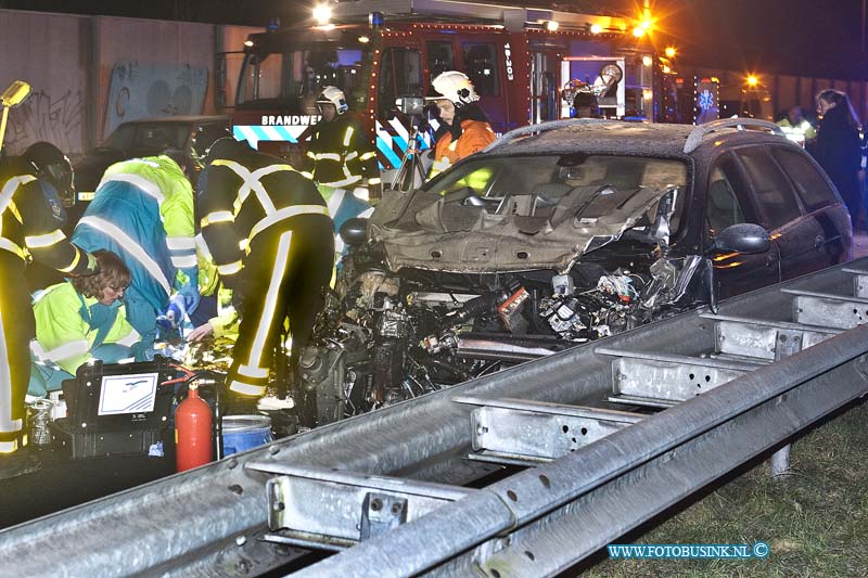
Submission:
[[[464,73],[447,70],[432,80],[442,126],[434,146],[434,164],[429,178],[436,177],[461,158],[482,151],[495,141],[488,117],[480,107],[480,97]]]

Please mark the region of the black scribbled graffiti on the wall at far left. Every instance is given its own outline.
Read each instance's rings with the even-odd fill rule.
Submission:
[[[9,113],[4,146],[20,153],[35,142],[48,141],[66,153],[81,151],[84,98],[80,91],[67,90],[53,97],[34,91]]]

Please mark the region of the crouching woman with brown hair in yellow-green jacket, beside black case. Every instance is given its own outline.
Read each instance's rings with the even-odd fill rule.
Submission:
[[[91,359],[116,362],[131,356],[139,334],[120,301],[130,273],[120,257],[94,251],[100,272],[52,285],[34,300],[36,338],[27,393],[44,396],[60,389]]]

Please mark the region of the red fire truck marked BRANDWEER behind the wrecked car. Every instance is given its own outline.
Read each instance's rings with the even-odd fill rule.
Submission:
[[[316,97],[333,85],[369,129],[381,167],[396,169],[413,127],[421,149],[431,146],[436,118],[417,104],[450,69],[471,78],[497,133],[570,117],[577,90],[592,91],[609,118],[652,120],[659,108],[659,62],[639,21],[449,0],[331,5],[328,23],[248,37],[230,113],[235,138],[298,158],[319,119]]]

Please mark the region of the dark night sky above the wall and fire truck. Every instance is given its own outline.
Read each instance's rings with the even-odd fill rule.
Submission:
[[[497,3],[498,0],[488,0]],[[841,79],[868,78],[861,51],[866,0],[650,0],[662,43],[671,35],[681,62],[709,68]],[[582,11],[600,8],[634,15],[642,0],[500,0]],[[191,20],[264,26],[280,16],[307,15],[314,0],[0,0],[0,8]]]

